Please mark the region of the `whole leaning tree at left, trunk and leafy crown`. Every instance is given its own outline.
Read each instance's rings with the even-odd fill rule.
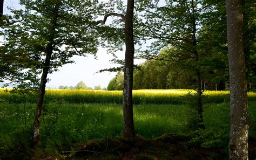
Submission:
[[[13,57],[19,64],[18,74],[10,73],[9,79],[38,89],[33,150],[40,145],[39,124],[48,74],[73,62],[70,60],[73,55],[97,52],[95,22],[92,20],[96,4],[60,0],[21,1],[21,4],[25,5],[25,10],[12,10],[15,23],[5,26],[3,34],[7,38],[2,48],[3,57]]]

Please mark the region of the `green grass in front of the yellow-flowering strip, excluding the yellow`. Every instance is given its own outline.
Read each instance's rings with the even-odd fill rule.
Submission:
[[[29,155],[31,126],[35,104],[0,104],[0,155]],[[204,105],[206,130],[199,134],[196,142],[204,147],[227,146],[229,136],[228,103]],[[136,134],[147,138],[165,133],[190,135],[193,112],[186,105],[134,105]],[[41,119],[41,139],[46,154],[53,151],[70,150],[75,143],[92,138],[122,136],[122,105],[48,103]],[[250,102],[250,136],[256,137],[256,102]],[[22,155],[19,155],[22,156]],[[1,156],[0,156],[1,157]]]

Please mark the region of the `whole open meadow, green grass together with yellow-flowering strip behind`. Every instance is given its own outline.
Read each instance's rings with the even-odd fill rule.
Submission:
[[[156,138],[177,134],[196,138],[202,147],[226,147],[229,137],[227,91],[204,92],[205,130],[196,130],[186,89],[134,91],[136,134]],[[193,94],[194,91],[191,91]],[[256,94],[248,93],[250,136],[256,138]],[[35,97],[0,90],[0,159],[29,158]],[[45,154],[60,155],[93,138],[122,136],[122,92],[47,89],[41,119]],[[227,151],[227,150],[226,150]]]

